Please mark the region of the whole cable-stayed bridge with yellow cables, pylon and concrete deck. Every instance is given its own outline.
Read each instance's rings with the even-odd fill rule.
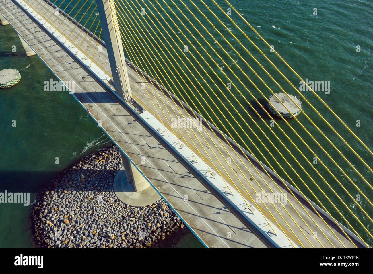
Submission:
[[[224,10],[215,1],[201,1],[198,5],[179,1],[187,14],[173,1],[155,2],[157,5],[137,0],[0,2],[1,21],[15,28],[26,52],[38,54],[120,149],[124,169],[113,182],[118,198],[141,207],[162,196],[206,247],[369,247],[371,226],[360,220],[364,216],[364,220],[372,221],[369,196],[373,188],[361,171],[372,171],[368,165],[373,155],[369,147],[308,84],[320,104],[341,123],[343,133],[323,119],[312,104],[300,110],[314,131],[297,117],[289,122],[279,115],[276,120],[263,105],[258,104],[261,110],[253,107],[247,99],[253,95],[247,83],[263,95],[262,100],[267,100],[266,94],[276,94],[264,76],[275,82],[278,91],[286,93],[283,82],[276,81],[266,66],[275,67],[296,89],[292,93],[298,92],[304,103],[309,102],[236,25],[231,18],[234,13],[266,43],[228,1],[224,1]],[[200,7],[204,12],[196,16],[191,9]],[[241,40],[235,37],[239,49],[226,39],[226,32],[231,30],[221,21],[225,15],[242,31]],[[213,31],[206,29],[206,22],[211,23]],[[201,34],[203,30],[205,35]],[[248,50],[247,43],[253,44],[255,54]],[[271,45],[266,46],[273,50]],[[231,51],[240,62],[232,59]],[[271,52],[300,78],[275,50]],[[248,61],[244,53],[252,60]],[[269,61],[265,66],[256,57],[258,53]],[[226,54],[224,58],[232,59],[235,66],[224,63],[225,69],[215,68],[214,56],[220,54]],[[255,64],[261,72],[254,69]],[[150,73],[157,68],[160,74],[155,79]],[[249,70],[257,79],[251,79]],[[268,89],[266,94],[262,86]],[[247,105],[253,111],[248,112]],[[324,126],[313,122],[312,111],[321,117]],[[253,114],[258,118],[253,119]],[[294,129],[293,122],[300,127]],[[272,129],[271,123],[277,128]],[[288,133],[278,126],[280,123],[289,126]],[[328,127],[339,138],[338,145],[330,141],[325,129]],[[313,136],[315,131],[327,140],[327,147],[316,139],[318,147],[303,141],[303,134]],[[367,155],[355,152],[345,140],[347,134],[366,149]],[[302,140],[305,147],[294,143],[295,138]],[[257,147],[258,142],[263,148]],[[358,167],[363,169],[355,168],[355,162],[344,155],[345,150],[341,152],[341,144],[351,151],[348,156],[360,160]],[[359,180],[330,156],[330,149],[340,153]],[[335,166],[325,164],[320,154],[329,157]],[[257,158],[266,159],[268,155],[273,158],[266,161],[268,166]],[[298,161],[301,156],[308,166]],[[314,157],[321,169],[314,167]],[[290,183],[279,175],[287,174],[286,166],[294,174],[288,176]],[[323,172],[329,173],[333,182]],[[336,186],[345,193],[336,192]],[[351,192],[351,188],[356,191]],[[341,202],[336,205],[329,193]],[[355,199],[355,193],[359,193],[363,204]],[[359,214],[351,210],[351,205],[358,208]],[[152,228],[144,227],[144,231],[148,229]]]

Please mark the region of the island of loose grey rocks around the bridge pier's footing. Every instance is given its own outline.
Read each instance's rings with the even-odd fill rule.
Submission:
[[[141,248],[183,228],[163,199],[136,208],[116,197],[113,181],[122,166],[118,148],[110,146],[52,180],[32,207],[36,243],[44,248]]]

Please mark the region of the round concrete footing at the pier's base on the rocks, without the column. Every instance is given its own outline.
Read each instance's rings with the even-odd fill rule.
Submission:
[[[122,167],[114,178],[114,192],[120,201],[131,207],[146,207],[154,204],[161,196],[150,185],[139,192],[135,191],[133,183],[129,183],[124,167]]]

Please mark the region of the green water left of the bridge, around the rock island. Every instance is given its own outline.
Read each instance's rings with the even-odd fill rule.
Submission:
[[[44,81],[56,77],[38,56],[25,56],[10,25],[0,26],[0,70],[5,68],[18,69],[22,78],[0,90],[0,192],[30,192],[32,202],[60,171],[112,141],[68,92],[44,91]],[[0,248],[35,247],[30,210],[0,204]],[[166,245],[203,247],[188,230]]]

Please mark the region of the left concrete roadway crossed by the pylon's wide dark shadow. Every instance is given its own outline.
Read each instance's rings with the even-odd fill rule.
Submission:
[[[245,226],[222,201],[191,176],[175,157],[160,146],[144,127],[132,119],[111,95],[73,62],[12,1],[1,1],[0,12],[60,80],[75,81],[76,98],[90,110],[95,120],[102,121],[103,128],[111,138],[130,155],[131,160],[207,247],[270,246],[259,239],[262,236],[257,234],[255,228],[253,232]],[[145,164],[141,164],[143,156]],[[185,195],[188,195],[188,201],[184,200]],[[228,237],[229,234],[232,236]]]

